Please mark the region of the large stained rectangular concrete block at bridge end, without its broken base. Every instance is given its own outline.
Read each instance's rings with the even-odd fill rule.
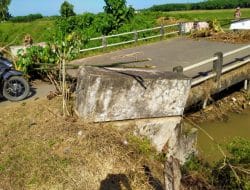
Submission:
[[[190,79],[172,72],[82,67],[76,112],[94,122],[180,116]]]

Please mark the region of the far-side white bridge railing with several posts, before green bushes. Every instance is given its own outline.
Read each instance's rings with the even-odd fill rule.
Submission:
[[[174,31],[166,33],[165,29],[166,28],[171,28],[171,27],[178,27],[178,30],[174,30]],[[140,33],[152,32],[152,31],[157,31],[157,30],[159,30],[159,34],[157,34],[157,35],[151,35],[151,36],[139,38]],[[87,52],[87,51],[103,49],[103,48],[107,48],[107,47],[119,46],[119,45],[124,45],[124,44],[129,44],[129,43],[136,43],[136,42],[139,42],[139,41],[153,39],[153,38],[159,38],[159,37],[163,38],[164,36],[179,34],[179,33],[180,33],[180,24],[172,24],[172,25],[165,25],[165,26],[161,25],[159,27],[147,28],[147,29],[143,29],[143,30],[135,30],[133,32],[125,32],[125,33],[114,34],[114,35],[109,35],[109,36],[100,36],[100,37],[96,37],[96,38],[91,38],[89,41],[98,41],[98,40],[100,40],[101,43],[102,43],[101,46],[82,49],[82,50],[80,50],[80,52]],[[128,35],[132,35],[133,39],[118,42],[118,43],[110,43],[110,44],[108,43],[108,39],[110,39],[110,38],[115,38],[115,37],[120,37],[120,36],[128,36]]]

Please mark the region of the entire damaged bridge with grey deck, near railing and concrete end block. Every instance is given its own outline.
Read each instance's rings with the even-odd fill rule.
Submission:
[[[77,61],[85,66],[77,75],[76,112],[86,121],[132,125],[158,151],[168,147],[168,154],[184,161],[195,141],[195,133],[183,134],[180,125],[185,107],[198,101],[206,106],[211,94],[241,81],[249,89],[249,49],[178,38]],[[122,56],[137,51],[142,53],[135,62]],[[119,56],[126,60],[114,63]]]

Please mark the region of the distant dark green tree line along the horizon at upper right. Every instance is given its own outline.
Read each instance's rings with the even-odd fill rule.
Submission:
[[[249,0],[207,0],[199,3],[172,3],[154,5],[149,8],[151,11],[183,11],[183,10],[212,10],[232,9],[236,7],[250,7]]]

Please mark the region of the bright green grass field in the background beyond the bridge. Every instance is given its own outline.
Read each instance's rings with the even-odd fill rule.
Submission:
[[[242,9],[242,17],[250,18],[250,9]],[[159,25],[160,17],[173,17],[176,21],[214,20],[221,21],[227,27],[233,20],[233,9],[227,10],[195,10],[173,12],[142,12],[119,29],[118,33],[135,29],[150,28]],[[157,22],[158,20],[158,22]],[[8,44],[16,39],[15,44],[21,44],[25,34],[29,33],[35,42],[47,41],[54,29],[53,19],[40,19],[29,23],[0,23],[0,45]]]

